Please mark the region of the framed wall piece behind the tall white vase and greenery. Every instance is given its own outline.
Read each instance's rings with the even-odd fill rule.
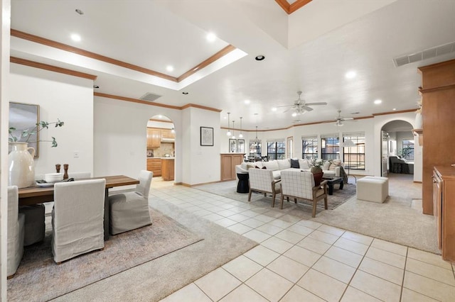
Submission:
[[[23,138],[21,134],[23,130],[33,130],[36,123],[39,122],[40,106],[34,104],[23,104],[9,102],[9,127],[14,127],[13,135],[20,138],[18,142],[28,142],[28,147],[35,148],[35,157],[39,155],[38,132],[30,136],[30,138]],[[11,147],[9,148],[11,151]]]

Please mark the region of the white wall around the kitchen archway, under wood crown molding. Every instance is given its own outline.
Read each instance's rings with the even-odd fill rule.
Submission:
[[[137,178],[146,169],[146,128],[152,116],[171,118],[176,128],[176,166],[181,162],[181,111],[95,96],[95,175],[127,175]],[[176,169],[174,181],[182,179]],[[122,188],[124,189],[124,188]]]

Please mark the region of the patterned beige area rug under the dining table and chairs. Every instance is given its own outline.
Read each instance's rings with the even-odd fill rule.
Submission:
[[[203,240],[157,210],[153,224],[111,236],[105,250],[55,264],[50,247],[50,218],[43,242],[26,247],[14,278],[8,280],[8,301],[48,301]]]

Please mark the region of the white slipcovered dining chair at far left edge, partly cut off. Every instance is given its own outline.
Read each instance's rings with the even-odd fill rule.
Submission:
[[[16,274],[23,256],[23,231],[25,215],[18,213],[18,188],[8,187],[8,247],[6,252],[7,266],[6,275],[8,279]]]

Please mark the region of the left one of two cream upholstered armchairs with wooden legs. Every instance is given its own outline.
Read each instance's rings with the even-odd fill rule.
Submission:
[[[275,206],[275,196],[281,193],[279,179],[275,180],[272,170],[267,169],[249,169],[250,173],[250,191],[248,192],[248,201],[251,201],[253,191],[262,192],[264,196],[267,193],[272,194],[272,208]]]

